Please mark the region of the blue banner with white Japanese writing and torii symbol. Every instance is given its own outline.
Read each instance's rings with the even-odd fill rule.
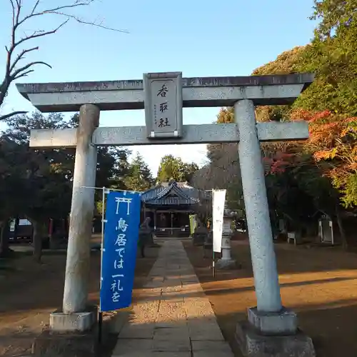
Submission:
[[[139,238],[139,193],[110,192],[101,259],[101,311],[127,308],[131,304]]]

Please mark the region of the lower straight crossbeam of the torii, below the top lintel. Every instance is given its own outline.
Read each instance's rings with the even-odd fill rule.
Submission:
[[[268,121],[256,124],[259,141],[290,141],[308,138],[304,121]],[[172,144],[219,144],[239,141],[238,124],[183,125],[182,138],[146,138],[145,126],[99,127],[94,129],[92,144],[96,146],[136,146]],[[77,129],[33,129],[33,148],[75,148]]]

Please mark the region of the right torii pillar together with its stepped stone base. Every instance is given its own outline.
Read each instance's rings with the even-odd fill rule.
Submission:
[[[248,308],[248,323],[238,323],[236,339],[244,356],[313,357],[313,343],[298,331],[296,313],[281,304],[253,101],[237,101],[234,118],[240,135],[239,164],[257,303]]]

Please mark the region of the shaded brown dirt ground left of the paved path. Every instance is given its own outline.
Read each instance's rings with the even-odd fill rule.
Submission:
[[[134,296],[141,288],[159,248],[149,248],[146,258],[136,261]],[[29,253],[0,268],[0,356],[29,354],[31,343],[48,326],[49,313],[59,308],[64,289],[66,253],[45,251],[43,265],[34,263]],[[99,304],[100,253],[91,253],[90,303]]]

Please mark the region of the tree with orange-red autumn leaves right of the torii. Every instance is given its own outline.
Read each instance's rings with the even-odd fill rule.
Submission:
[[[347,248],[341,206],[357,204],[357,118],[303,109],[291,112],[291,119],[296,118],[308,121],[308,141],[285,144],[280,151],[265,148],[270,206],[301,224],[311,208],[328,213],[336,218]]]

